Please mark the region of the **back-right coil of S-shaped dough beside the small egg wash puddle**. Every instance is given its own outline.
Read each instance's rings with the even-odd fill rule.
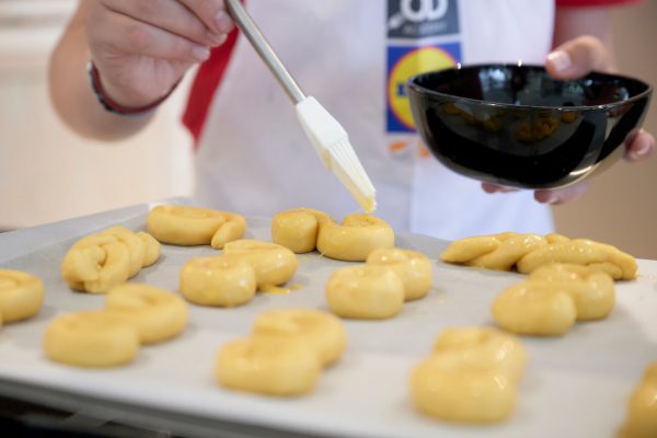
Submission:
[[[287,247],[257,240],[242,239],[227,243],[223,254],[239,257],[253,266],[258,288],[289,281],[299,266],[297,255]]]

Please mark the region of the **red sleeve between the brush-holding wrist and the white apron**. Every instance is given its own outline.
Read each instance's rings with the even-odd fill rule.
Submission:
[[[219,89],[223,73],[226,73],[237,41],[238,31],[234,30],[228,34],[226,43],[212,49],[210,58],[198,68],[194,78],[183,113],[183,124],[192,132],[194,145],[197,145],[200,132],[203,132],[212,99]]]

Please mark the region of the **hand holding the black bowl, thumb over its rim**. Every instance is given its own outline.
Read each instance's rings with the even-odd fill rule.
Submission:
[[[604,45],[592,36],[570,39],[554,49],[545,61],[545,69],[554,78],[568,80],[580,78],[591,70],[612,71],[613,59]],[[625,138],[625,159],[641,161],[655,150],[655,138],[643,129],[635,129]],[[589,182],[552,191],[537,191],[534,198],[544,204],[563,204],[581,196]],[[486,193],[505,193],[515,189],[483,183]]]

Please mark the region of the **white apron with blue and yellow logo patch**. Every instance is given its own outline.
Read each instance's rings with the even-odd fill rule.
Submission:
[[[542,64],[553,0],[246,0],[308,95],[349,132],[377,188],[377,216],[396,231],[459,239],[552,230],[531,192],[485,194],[428,155],[413,134],[403,84],[462,64]],[[243,215],[312,207],[358,210],[323,168],[293,106],[240,36],[196,157],[198,201]]]

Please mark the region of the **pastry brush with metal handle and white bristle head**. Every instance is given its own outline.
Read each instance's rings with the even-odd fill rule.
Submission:
[[[360,164],[347,131],[314,97],[303,94],[240,0],[227,0],[226,5],[233,21],[295,104],[297,117],[324,165],[366,211],[372,212],[377,208],[377,191]]]

